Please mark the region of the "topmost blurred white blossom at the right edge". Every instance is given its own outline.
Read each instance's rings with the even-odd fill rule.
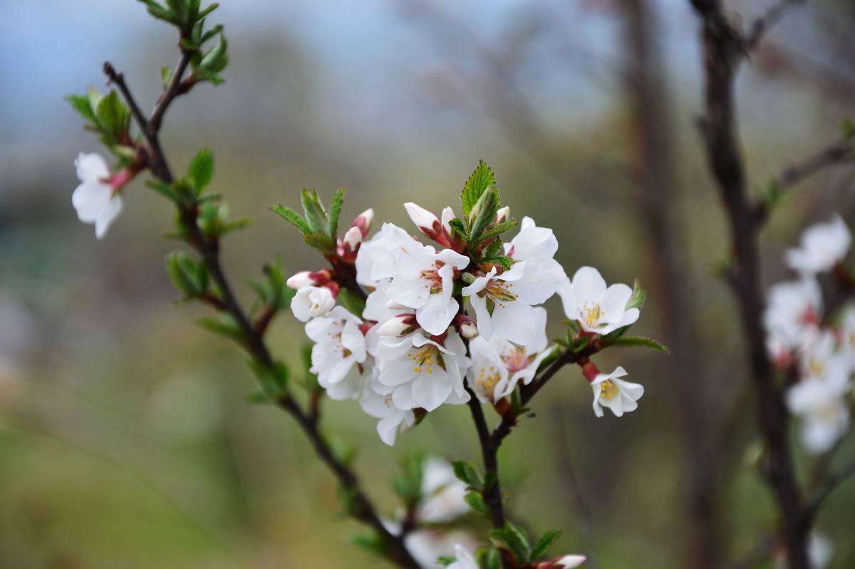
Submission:
[[[798,249],[789,249],[784,257],[789,267],[803,275],[816,275],[830,270],[846,257],[852,234],[846,222],[835,214],[830,222],[817,223],[805,229]]]

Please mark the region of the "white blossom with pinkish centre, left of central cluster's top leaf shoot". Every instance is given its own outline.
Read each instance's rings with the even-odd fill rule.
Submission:
[[[395,275],[386,289],[389,299],[416,309],[416,322],[431,335],[445,332],[460,305],[454,293],[454,270],[463,270],[469,258],[451,249],[436,252],[410,241],[398,247]]]

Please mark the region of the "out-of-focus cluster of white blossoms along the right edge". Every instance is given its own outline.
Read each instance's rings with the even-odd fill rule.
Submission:
[[[786,252],[799,278],[771,287],[764,313],[769,357],[798,379],[787,389],[787,407],[801,419],[802,442],[815,454],[830,450],[849,430],[855,305],[826,315],[818,276],[831,272],[851,286],[843,265],[851,241],[840,216],[808,228],[801,246]]]

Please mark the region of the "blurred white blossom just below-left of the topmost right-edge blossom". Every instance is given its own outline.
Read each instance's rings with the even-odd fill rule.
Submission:
[[[812,278],[793,282],[779,282],[769,288],[769,305],[763,314],[769,347],[795,350],[805,345],[816,333],[822,317],[823,295],[819,284]],[[771,353],[772,358],[779,354]]]

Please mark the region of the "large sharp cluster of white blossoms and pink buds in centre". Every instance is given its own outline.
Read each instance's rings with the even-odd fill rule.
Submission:
[[[331,398],[358,400],[379,418],[386,444],[426,413],[473,396],[505,412],[514,390],[533,382],[560,349],[547,341],[542,307],[555,293],[576,347],[600,347],[599,339],[639,317],[632,288],[607,287],[592,267],[569,279],[554,258],[555,235],[531,218],[503,243],[500,234],[517,222],[508,208],[498,208],[492,186],[469,204],[464,190],[462,218],[450,207],[439,215],[413,203],[404,207],[432,245],[392,223],[368,239],[374,218],[368,210],[324,251],[330,269],[287,282],[297,289],[292,311],[315,341],[311,371]],[[323,215],[319,205],[315,210]],[[605,374],[587,358],[576,361],[584,365],[598,416],[603,407],[618,417],[637,407],[644,389],[618,379],[626,371]]]

